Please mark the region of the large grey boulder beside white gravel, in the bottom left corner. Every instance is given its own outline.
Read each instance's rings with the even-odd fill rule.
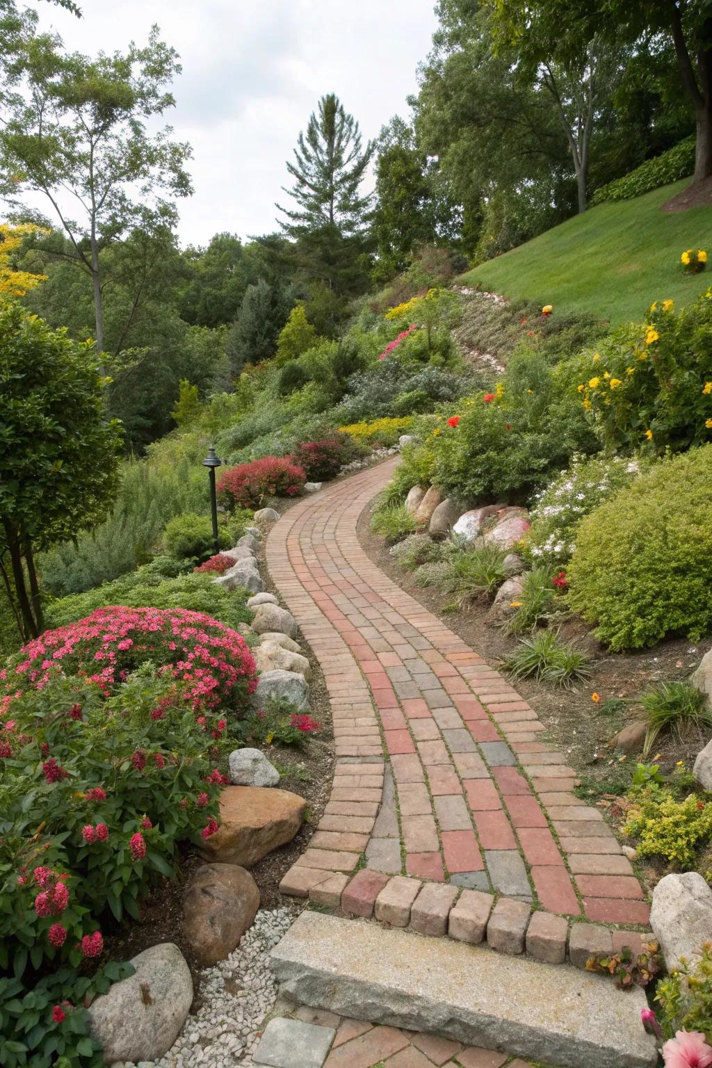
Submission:
[[[104,1062],[158,1061],[183,1028],[193,1000],[190,969],[172,942],[153,945],[131,958],[133,975],[114,983],[89,1010],[92,1036],[104,1047]]]

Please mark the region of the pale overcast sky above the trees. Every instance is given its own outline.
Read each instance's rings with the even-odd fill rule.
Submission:
[[[152,23],[180,53],[168,121],[189,141],[195,192],[180,207],[181,245],[275,229],[285,160],[319,96],[335,92],[376,137],[406,115],[436,27],[434,0],[79,0],[83,17],[37,4],[70,49],[143,44]]]

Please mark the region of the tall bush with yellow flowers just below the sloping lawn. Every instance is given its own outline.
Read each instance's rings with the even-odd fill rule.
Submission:
[[[650,305],[582,359],[579,394],[607,445],[662,454],[712,440],[712,301]]]

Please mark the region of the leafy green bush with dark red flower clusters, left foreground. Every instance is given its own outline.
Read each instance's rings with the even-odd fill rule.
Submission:
[[[74,1006],[91,986],[78,969],[102,954],[102,921],[140,918],[156,877],[173,877],[178,842],[218,829],[222,776],[210,750],[225,725],[207,709],[196,718],[202,706],[185,689],[146,663],[109,697],[86,679],[54,676],[12,701],[0,756],[0,968],[22,986],[0,980],[0,1015],[2,1040],[23,1043],[31,1065],[53,1063],[48,1033],[62,1036],[70,1063],[92,1057],[97,1046]],[[43,976],[34,1004],[5,1000]],[[62,1012],[50,1016],[53,999]]]

